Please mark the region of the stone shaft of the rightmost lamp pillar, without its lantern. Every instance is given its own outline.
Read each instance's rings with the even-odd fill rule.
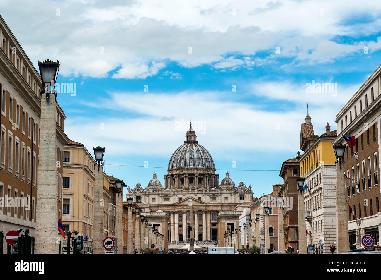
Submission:
[[[347,194],[343,173],[344,167],[336,164],[336,236],[337,249],[336,253],[349,252],[349,235],[348,235],[348,206]],[[299,248],[300,251],[300,248]]]

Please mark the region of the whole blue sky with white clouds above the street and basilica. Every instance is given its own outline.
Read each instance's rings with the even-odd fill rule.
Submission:
[[[0,13],[37,69],[60,61],[70,140],[106,147],[106,173],[131,188],[164,183],[192,120],[220,180],[271,192],[307,103],[315,134],[335,130],[381,62],[379,1],[2,0]]]

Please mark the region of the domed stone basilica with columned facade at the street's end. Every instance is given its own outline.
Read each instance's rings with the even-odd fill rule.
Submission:
[[[219,183],[213,158],[196,140],[192,123],[184,143],[170,157],[167,171],[164,184],[154,173],[145,188],[138,183],[126,194],[165,235],[165,247],[189,242],[191,226],[195,245],[218,242],[219,246],[241,248],[239,216],[253,201],[251,185],[235,185],[228,172]]]

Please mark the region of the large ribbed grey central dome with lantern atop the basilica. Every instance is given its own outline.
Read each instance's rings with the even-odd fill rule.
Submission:
[[[192,167],[216,169],[213,158],[208,150],[196,140],[196,133],[192,129],[191,122],[184,144],[179,146],[170,158],[168,170]]]

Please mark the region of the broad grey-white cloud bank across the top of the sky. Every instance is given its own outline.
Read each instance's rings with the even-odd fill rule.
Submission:
[[[30,12],[41,7],[43,17]],[[319,4],[312,0],[3,0],[0,9],[32,62],[45,57],[59,59],[62,75],[104,77],[122,67],[114,78],[145,78],[157,75],[168,60],[184,67],[214,64],[219,69],[251,68],[249,61],[227,54],[248,57],[259,51],[274,53],[277,46],[282,48],[281,55],[296,57],[291,65],[295,66],[331,62],[363,46],[369,46],[370,51],[380,48],[379,40],[353,44],[332,41],[337,35],[358,38],[380,29],[381,6],[371,0],[361,5],[344,0]],[[355,25],[361,28],[343,24],[353,14],[375,20]]]

